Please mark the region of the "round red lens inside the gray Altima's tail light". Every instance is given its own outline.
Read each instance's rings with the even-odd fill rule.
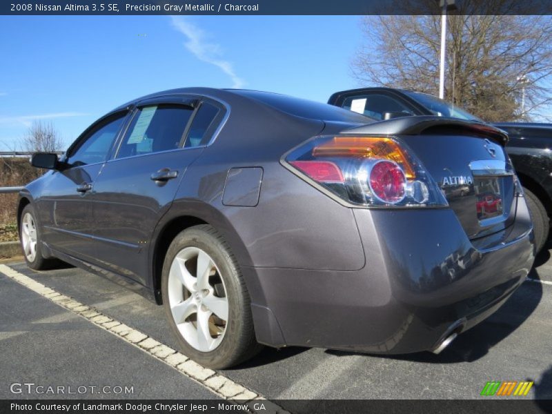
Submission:
[[[370,171],[370,188],[374,195],[386,203],[398,203],[405,196],[404,172],[391,161],[379,161]]]

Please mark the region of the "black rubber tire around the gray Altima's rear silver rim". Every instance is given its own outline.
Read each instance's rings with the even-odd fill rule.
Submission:
[[[188,247],[204,250],[213,259],[220,270],[220,277],[226,290],[226,299],[228,300],[226,331],[221,342],[213,351],[201,352],[191,346],[177,328],[170,309],[168,297],[170,266],[176,255]],[[228,368],[254,357],[262,348],[255,340],[250,298],[239,266],[228,244],[213,227],[206,224],[190,227],[175,237],[164,259],[161,293],[168,324],[177,339],[181,352],[199,364],[215,369]]]

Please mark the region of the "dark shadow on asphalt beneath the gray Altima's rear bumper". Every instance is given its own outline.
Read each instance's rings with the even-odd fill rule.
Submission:
[[[550,242],[549,242],[550,244]],[[548,247],[548,246],[547,246]],[[538,266],[546,263],[551,255],[544,249],[535,259],[535,266],[529,272],[529,278],[539,280]],[[535,311],[542,299],[542,284],[526,282],[506,301],[496,313],[469,331],[458,335],[457,339],[442,353],[435,355],[430,352],[406,355],[378,355],[379,357],[400,359],[412,362],[428,362],[433,364],[454,364],[458,362],[473,362],[484,357],[489,350],[502,339],[508,337],[521,326]],[[349,351],[327,350],[331,355],[359,355]],[[550,374],[549,374],[550,375]]]

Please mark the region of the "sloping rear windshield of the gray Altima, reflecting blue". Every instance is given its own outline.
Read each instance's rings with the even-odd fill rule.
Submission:
[[[369,117],[351,112],[350,110],[337,108],[337,106],[328,105],[327,103],[309,101],[308,99],[279,95],[277,93],[259,92],[256,90],[233,90],[233,92],[238,95],[243,95],[244,97],[261,101],[277,110],[297,117],[355,124],[368,124],[370,121],[373,121],[373,119]]]

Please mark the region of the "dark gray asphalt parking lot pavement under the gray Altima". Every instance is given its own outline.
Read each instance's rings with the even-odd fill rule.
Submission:
[[[495,315],[460,335],[440,355],[382,357],[266,348],[250,362],[221,374],[258,395],[278,400],[477,399],[482,398],[486,382],[495,380],[534,381],[526,398],[552,399],[551,252],[538,257],[530,275],[533,281],[525,282]],[[37,273],[21,261],[5,264],[176,347],[162,308],[126,288],[77,268]],[[77,386],[106,384],[106,379],[107,384],[133,386],[133,393],[81,397],[217,398],[174,368],[2,273],[0,315],[4,315],[0,319],[0,398],[19,397],[10,392],[14,382]],[[320,324],[324,324],[324,315],[320,315]]]

